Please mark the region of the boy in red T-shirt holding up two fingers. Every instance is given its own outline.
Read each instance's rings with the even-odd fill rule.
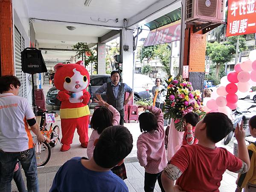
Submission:
[[[245,145],[243,122],[235,130],[238,157],[226,148],[216,147],[230,131],[233,124],[224,113],[207,113],[195,126],[196,145],[182,145],[163,170],[162,183],[168,192],[211,191],[218,192],[222,175],[231,172],[245,173],[250,159]],[[174,181],[176,185],[174,186]]]

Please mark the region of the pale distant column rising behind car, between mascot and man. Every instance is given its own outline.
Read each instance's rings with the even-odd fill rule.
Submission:
[[[98,74],[106,74],[106,44],[97,44]]]

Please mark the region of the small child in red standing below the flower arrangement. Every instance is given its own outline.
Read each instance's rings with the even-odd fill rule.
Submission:
[[[192,145],[198,143],[195,138],[195,125],[199,122],[200,117],[198,113],[189,112],[183,116],[185,131],[183,134],[182,145]]]

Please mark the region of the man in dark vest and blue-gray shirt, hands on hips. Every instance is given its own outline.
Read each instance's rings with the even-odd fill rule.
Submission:
[[[100,96],[101,93],[106,92],[107,96],[107,103],[109,105],[112,105],[114,108],[117,109],[120,113],[120,125],[124,125],[124,105],[126,105],[130,99],[133,97],[134,92],[125,83],[120,83],[120,73],[119,71],[112,71],[111,72],[111,82],[103,84],[101,87],[99,87],[98,90],[96,90],[95,94],[97,99],[102,99]],[[125,100],[125,92],[130,93],[128,98]]]

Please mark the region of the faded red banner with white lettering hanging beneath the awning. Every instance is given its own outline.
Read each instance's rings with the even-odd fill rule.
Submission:
[[[178,40],[180,40],[180,20],[151,30],[143,46],[170,43]]]

